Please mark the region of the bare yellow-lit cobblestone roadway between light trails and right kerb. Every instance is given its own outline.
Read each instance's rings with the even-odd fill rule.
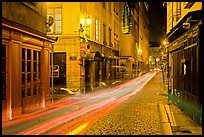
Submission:
[[[163,134],[159,103],[165,103],[160,73],[135,96],[96,121],[86,135],[159,135]]]

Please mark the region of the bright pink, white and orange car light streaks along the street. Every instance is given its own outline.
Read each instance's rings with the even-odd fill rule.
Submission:
[[[65,129],[65,126],[63,127],[62,124],[69,122],[70,120],[72,120],[72,124],[74,123],[73,122],[73,120],[74,120],[76,123],[74,123],[73,125],[78,124],[78,126],[70,128],[69,132],[66,132],[66,134],[81,134],[85,130],[87,130],[97,119],[107,115],[108,113],[110,113],[110,111],[112,111],[119,104],[121,104],[122,102],[127,100],[129,97],[135,95],[138,91],[140,91],[142,89],[142,87],[144,85],[146,85],[146,83],[150,79],[152,79],[152,77],[154,77],[155,74],[156,73],[147,73],[147,74],[143,75],[142,77],[137,77],[136,79],[128,81],[128,82],[121,84],[117,87],[109,88],[109,89],[103,89],[103,90],[100,90],[99,92],[96,92],[96,93],[93,92],[93,94],[79,96],[78,98],[69,97],[69,98],[61,99],[60,101],[56,102],[55,105],[52,105],[52,107],[58,107],[58,108],[53,109],[53,111],[46,110],[47,112],[43,112],[41,114],[36,113],[38,116],[37,115],[35,116],[33,113],[32,115],[34,115],[34,116],[32,116],[32,118],[30,117],[30,119],[34,119],[34,118],[37,118],[37,117],[40,117],[43,115],[49,115],[54,111],[58,111],[59,109],[66,108],[67,106],[70,106],[70,105],[77,105],[77,104],[80,105],[83,102],[91,103],[92,101],[94,101],[94,102],[98,101],[98,103],[96,103],[94,105],[90,105],[88,107],[84,107],[84,108],[79,109],[79,110],[75,110],[74,112],[70,112],[70,113],[66,114],[65,116],[60,116],[60,118],[58,117],[54,120],[51,119],[50,121],[44,121],[41,124],[37,124],[37,125],[35,124],[34,127],[29,128],[23,132],[18,133],[18,134],[19,135],[21,135],[21,134],[24,134],[24,135],[36,134],[36,135],[38,135],[38,134],[43,134],[45,132],[47,132],[49,134],[49,130],[51,130],[57,126],[59,126],[61,131],[62,131],[63,128]],[[100,98],[100,100],[95,100],[98,98]],[[80,99],[80,100],[72,102],[71,104],[68,103],[69,101],[73,101],[72,99]],[[81,99],[83,99],[83,100],[81,100]],[[103,99],[103,100],[105,99],[105,101],[101,101],[101,99]],[[67,105],[67,104],[69,104],[69,105]],[[87,105],[87,104],[85,104],[85,105]],[[69,107],[67,107],[67,109],[68,108]],[[104,110],[101,111],[102,109],[104,109]],[[92,114],[92,115],[89,115],[89,119],[90,119],[97,112],[100,112],[100,114],[93,117],[91,120],[89,120],[83,124],[80,124],[79,121],[77,122],[77,120],[75,119],[79,116],[82,116],[85,113],[87,113],[87,114],[85,114],[85,116]],[[85,116],[83,116],[83,117],[85,117]],[[83,117],[81,119],[83,119]],[[58,130],[58,129],[59,128],[57,128],[57,130],[51,131],[50,133],[54,133],[54,134],[56,133],[57,134],[60,132],[60,130]]]

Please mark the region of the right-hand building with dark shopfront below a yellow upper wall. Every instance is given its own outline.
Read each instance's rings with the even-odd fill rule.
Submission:
[[[169,99],[202,123],[200,70],[202,3],[167,2],[167,72]]]

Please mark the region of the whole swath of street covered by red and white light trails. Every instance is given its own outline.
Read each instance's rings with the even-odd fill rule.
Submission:
[[[140,93],[139,91],[141,91],[142,87],[154,75],[154,72],[147,73],[113,88],[102,89],[86,95],[75,95],[73,97],[63,98],[44,110],[25,114],[24,117],[22,116],[21,118],[4,122],[2,124],[2,134],[82,133],[82,131],[84,132],[87,127],[90,127],[99,118],[111,113],[116,107],[120,108],[121,104],[127,103],[126,100],[131,99],[131,96],[137,97],[137,93]],[[147,112],[150,114],[151,111]],[[156,116],[159,117],[158,114],[156,114]],[[86,127],[74,133],[75,129],[83,123]],[[90,131],[92,131],[92,128]],[[159,133],[159,130],[157,131]],[[87,134],[89,134],[88,131]]]

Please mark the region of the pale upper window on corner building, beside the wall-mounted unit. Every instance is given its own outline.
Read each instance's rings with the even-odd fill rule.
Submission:
[[[61,7],[55,7],[55,8],[49,8],[47,10],[47,15],[51,15],[54,17],[54,23],[50,27],[51,34],[61,34],[62,33],[62,8]]]

